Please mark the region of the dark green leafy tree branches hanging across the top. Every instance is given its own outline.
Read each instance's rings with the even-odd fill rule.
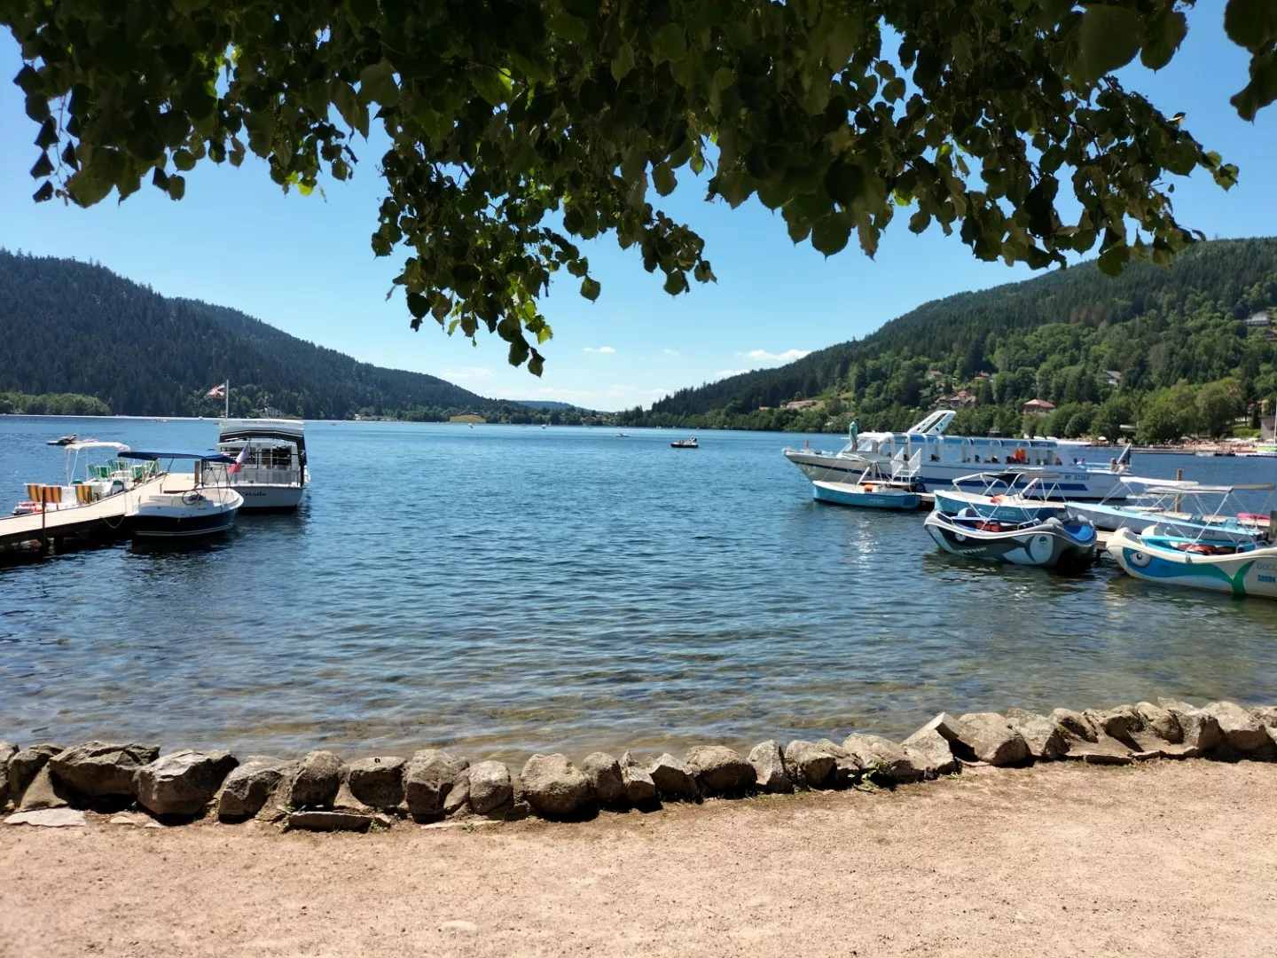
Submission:
[[[414,327],[480,326],[540,373],[538,308],[576,240],[637,247],[670,294],[714,278],[660,209],[677,178],[780,209],[826,255],[898,209],[982,259],[1160,263],[1193,241],[1167,174],[1236,169],[1111,73],[1175,54],[1193,0],[0,0],[40,124],[36,199],[80,206],[252,152],[303,192],[379,124],[378,255]],[[1228,0],[1232,102],[1277,97],[1273,0]],[[1061,202],[1062,197],[1071,197]],[[1065,209],[1078,208],[1075,218]],[[1131,226],[1134,232],[1131,232]]]

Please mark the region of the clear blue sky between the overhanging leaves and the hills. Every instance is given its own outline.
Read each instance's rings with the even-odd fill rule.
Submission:
[[[1241,167],[1228,193],[1202,174],[1176,180],[1180,220],[1208,236],[1266,235],[1277,215],[1277,107],[1246,124],[1228,105],[1246,82],[1246,54],[1223,36],[1221,6],[1189,14],[1188,38],[1166,69],[1133,66],[1122,79],[1166,114],[1185,111],[1185,126]],[[4,34],[0,75],[19,66],[18,46]],[[808,244],[794,247],[779,215],[756,202],[734,211],[705,203],[704,180],[684,169],[665,211],[705,238],[719,282],[693,284],[672,299],[636,250],[618,249],[612,238],[586,244],[603,295],[594,304],[581,299],[567,275],[552,289],[543,310],[554,338],[538,379],[506,364],[495,336],[471,346],[433,324],[412,332],[402,298],[386,301],[401,257],[378,259],[369,248],[382,195],[373,144],[356,139],[364,162],[352,181],[324,184],[326,198],[285,195],[264,165],[249,160],[239,170],[209,165],[188,174],[180,203],[143,186],[124,203],[78,209],[31,202],[36,125],[8,82],[0,82],[0,247],[92,259],[162,294],[234,307],[358,359],[487,396],[649,405],[683,386],[865,336],[930,299],[1032,275],[982,263],[939,231],[914,236],[908,216],[895,218],[876,259],[854,238],[825,259]]]

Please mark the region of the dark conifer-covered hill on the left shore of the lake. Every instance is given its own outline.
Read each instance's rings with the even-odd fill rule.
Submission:
[[[166,299],[101,266],[0,250],[0,393],[83,393],[125,415],[215,415],[221,402],[204,395],[226,378],[236,415],[529,411],[358,363],[234,309]]]

